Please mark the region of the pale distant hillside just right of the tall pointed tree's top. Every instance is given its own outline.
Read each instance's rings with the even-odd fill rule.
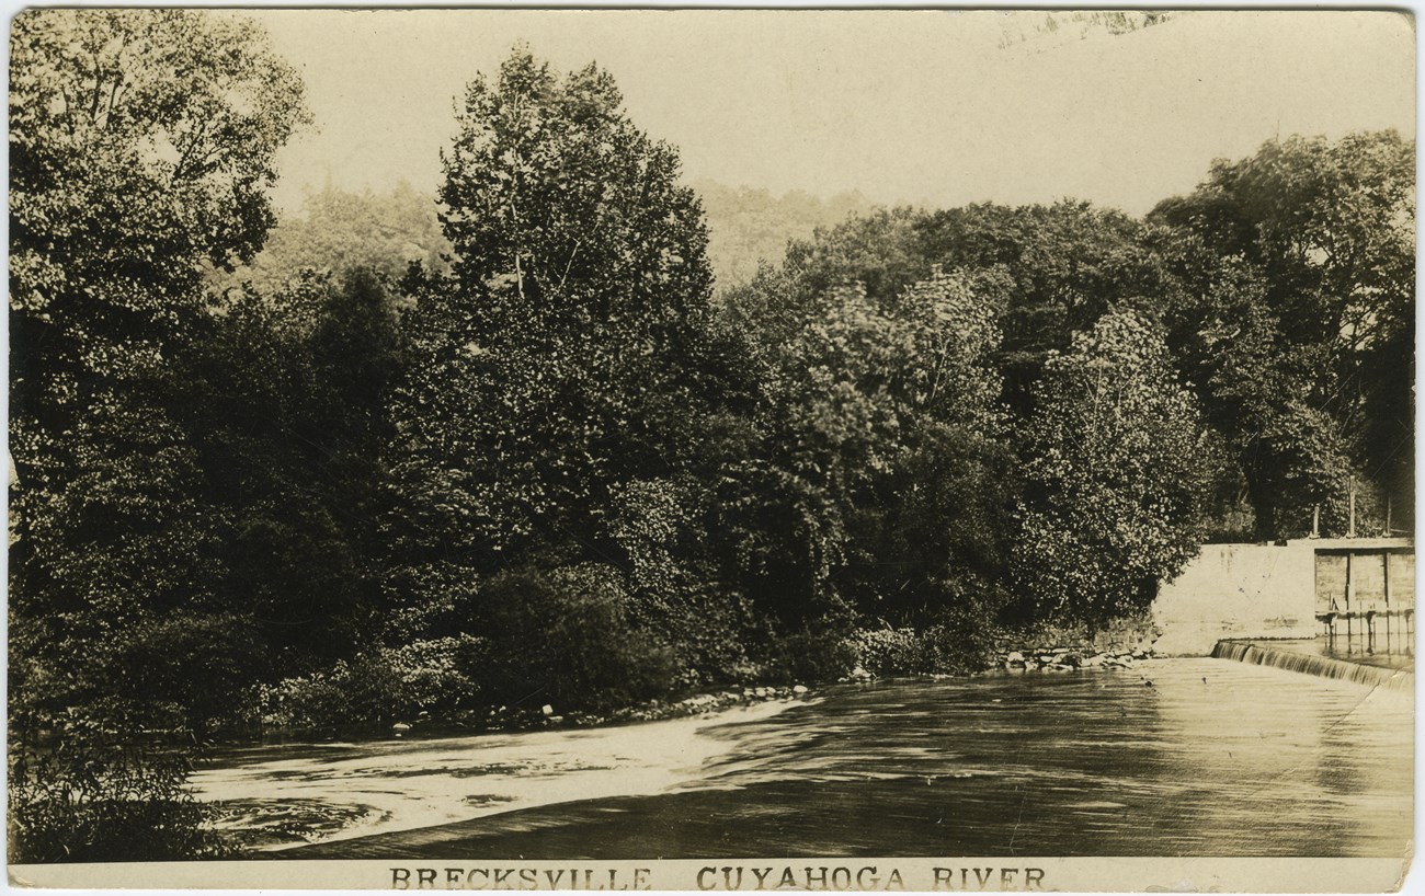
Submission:
[[[799,189],[778,197],[705,179],[693,188],[707,212],[708,261],[718,289],[748,282],[762,261],[781,262],[788,241],[805,239],[819,226],[841,224],[874,207],[859,191],[822,199]]]

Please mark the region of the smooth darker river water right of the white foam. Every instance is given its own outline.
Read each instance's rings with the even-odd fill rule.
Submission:
[[[1412,724],[1409,694],[1220,660],[844,687],[704,728],[656,792],[278,855],[1404,856]]]

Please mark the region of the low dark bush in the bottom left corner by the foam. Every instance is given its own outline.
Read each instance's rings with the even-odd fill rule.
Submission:
[[[152,862],[229,852],[184,783],[190,754],[71,715],[40,744],[11,739],[13,862]]]

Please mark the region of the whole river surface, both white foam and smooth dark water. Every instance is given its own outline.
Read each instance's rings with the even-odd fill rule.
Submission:
[[[703,719],[228,754],[353,806],[289,858],[1404,856],[1409,691],[1226,660],[839,685]],[[318,832],[321,833],[321,832]]]

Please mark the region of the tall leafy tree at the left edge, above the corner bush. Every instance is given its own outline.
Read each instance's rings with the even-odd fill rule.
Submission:
[[[50,708],[113,689],[94,652],[211,610],[221,513],[171,412],[201,276],[251,258],[302,87],[252,23],[36,10],[11,28],[11,678]]]

